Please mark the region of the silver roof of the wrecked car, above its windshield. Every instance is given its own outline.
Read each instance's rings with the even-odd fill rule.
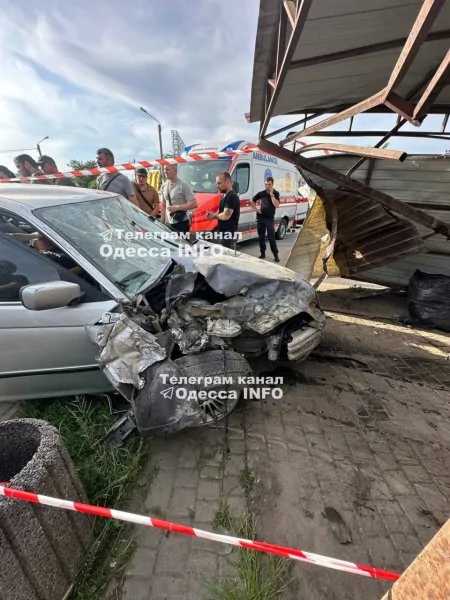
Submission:
[[[14,206],[19,208],[18,205],[21,205],[21,208],[26,206],[29,210],[33,210],[45,206],[58,206],[60,204],[85,202],[102,197],[112,198],[114,196],[117,196],[117,194],[65,185],[0,184],[0,203],[10,209],[13,209]]]

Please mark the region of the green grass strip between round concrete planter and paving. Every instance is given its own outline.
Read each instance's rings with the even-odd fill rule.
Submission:
[[[102,438],[114,424],[104,401],[58,398],[27,401],[21,416],[55,426],[74,462],[91,504],[117,508],[139,473],[147,454],[142,438],[130,437],[122,448],[107,446]],[[148,478],[145,485],[149,484]],[[70,600],[99,600],[114,574],[125,570],[134,547],[132,526],[96,518],[94,542],[80,568]]]

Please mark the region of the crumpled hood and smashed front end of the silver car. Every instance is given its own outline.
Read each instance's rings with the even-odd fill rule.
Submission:
[[[208,244],[199,245],[201,248],[204,250],[195,256],[173,257],[175,267],[167,276],[164,308],[159,315],[149,308],[150,288],[141,298],[148,299],[144,302],[147,309],[139,307],[137,301],[131,308],[132,317],[130,312],[106,313],[99,323],[87,327],[91,340],[100,348],[97,360],[115,387],[122,383],[142,389],[142,373],[169,360],[174,344],[183,355],[224,348],[225,339],[239,336],[244,329],[270,334],[300,313],[311,317],[310,329],[317,333],[322,329],[325,315],[318,306],[316,291],[301,275],[223,248],[220,256],[209,252]],[[198,275],[225,299],[212,302],[193,296]]]

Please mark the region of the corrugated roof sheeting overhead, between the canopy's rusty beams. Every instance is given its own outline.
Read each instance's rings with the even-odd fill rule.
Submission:
[[[297,44],[293,62],[330,53],[407,38],[422,0],[313,0]],[[276,36],[279,0],[261,0],[255,45],[250,121],[261,119],[273,42]],[[450,2],[446,2],[431,32],[450,29]],[[449,38],[428,41],[396,91],[403,97],[436,68],[449,46]],[[327,109],[338,112],[383,89],[400,56],[402,46],[372,54],[353,56],[291,68],[272,113],[287,115]],[[412,98],[413,100],[415,98]],[[450,86],[436,105],[450,106]],[[386,109],[380,109],[386,110]]]

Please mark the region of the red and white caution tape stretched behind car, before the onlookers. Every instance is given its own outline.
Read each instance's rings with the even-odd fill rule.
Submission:
[[[181,165],[188,162],[199,160],[208,160],[216,158],[226,158],[238,154],[248,154],[254,152],[257,148],[247,148],[245,150],[227,150],[226,152],[202,152],[201,154],[186,154],[186,156],[175,156],[173,158],[157,158],[155,160],[141,160],[137,163],[123,163],[112,167],[98,167],[95,169],[81,169],[80,171],[67,171],[67,173],[54,173],[53,175],[36,175],[35,177],[14,177],[10,179],[0,178],[0,183],[9,183],[10,181],[39,181],[41,179],[62,179],[63,177],[90,177],[92,175],[102,175],[103,173],[119,173],[119,171],[134,171],[144,167],[159,167],[166,165]]]

